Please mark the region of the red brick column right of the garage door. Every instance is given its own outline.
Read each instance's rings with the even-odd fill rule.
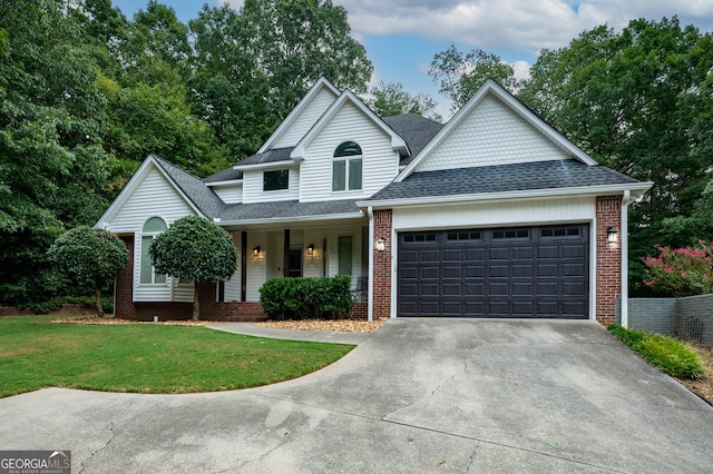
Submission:
[[[597,197],[597,305],[596,318],[603,325],[615,322],[616,298],[622,295],[622,197]],[[618,230],[616,244],[607,241],[607,229]]]

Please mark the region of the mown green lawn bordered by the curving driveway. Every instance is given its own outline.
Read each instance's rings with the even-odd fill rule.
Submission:
[[[0,318],[0,397],[42,387],[192,393],[254,387],[322,368],[353,346],[154,324]]]

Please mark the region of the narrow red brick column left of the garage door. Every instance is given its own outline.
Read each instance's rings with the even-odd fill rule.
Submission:
[[[392,233],[392,211],[374,210],[374,267],[371,277],[373,278],[373,300],[372,317],[383,318],[391,317],[391,233]],[[377,241],[381,237],[387,239],[384,251],[377,249]]]

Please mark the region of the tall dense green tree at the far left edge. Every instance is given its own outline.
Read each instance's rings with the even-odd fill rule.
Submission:
[[[46,250],[108,204],[106,100],[62,0],[0,3],[0,300],[47,290]]]

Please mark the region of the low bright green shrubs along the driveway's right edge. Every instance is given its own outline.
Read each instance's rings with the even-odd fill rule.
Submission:
[[[634,352],[672,377],[701,378],[705,369],[696,353],[684,343],[613,324],[607,327]]]

